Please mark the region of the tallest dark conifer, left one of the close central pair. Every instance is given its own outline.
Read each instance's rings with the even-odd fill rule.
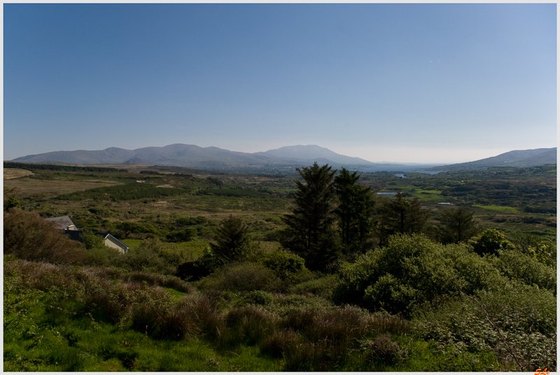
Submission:
[[[335,194],[332,179],[336,170],[328,164],[297,168],[303,181],[294,181],[295,206],[282,220],[287,225],[283,245],[304,258],[309,269],[321,269],[335,257],[337,241],[332,231]]]

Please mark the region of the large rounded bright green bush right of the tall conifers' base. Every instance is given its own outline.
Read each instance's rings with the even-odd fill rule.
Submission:
[[[398,235],[384,248],[342,266],[335,300],[409,315],[425,302],[456,296],[461,290],[500,288],[506,281],[466,245]]]

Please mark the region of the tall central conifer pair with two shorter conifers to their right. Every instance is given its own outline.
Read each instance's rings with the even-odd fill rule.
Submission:
[[[358,184],[358,172],[337,174],[328,164],[297,169],[293,212],[283,217],[282,244],[302,256],[310,269],[325,270],[337,259],[352,259],[374,246],[384,246],[393,234],[421,232],[427,212],[419,199],[398,192],[374,199],[370,187]],[[442,215],[435,231],[443,243],[458,243],[477,233],[472,213],[458,208]]]

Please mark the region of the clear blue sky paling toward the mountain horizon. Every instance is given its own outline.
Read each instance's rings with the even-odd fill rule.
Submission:
[[[556,146],[556,4],[4,4],[4,160],[187,143]]]

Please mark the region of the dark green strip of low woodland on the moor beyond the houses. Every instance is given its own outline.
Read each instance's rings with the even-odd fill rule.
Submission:
[[[156,187],[147,183],[127,183],[125,185],[94,187],[81,192],[62,194],[57,197],[61,200],[79,201],[82,199],[96,199],[102,201],[130,201],[133,199],[157,199],[172,197],[188,193],[181,187]]]

